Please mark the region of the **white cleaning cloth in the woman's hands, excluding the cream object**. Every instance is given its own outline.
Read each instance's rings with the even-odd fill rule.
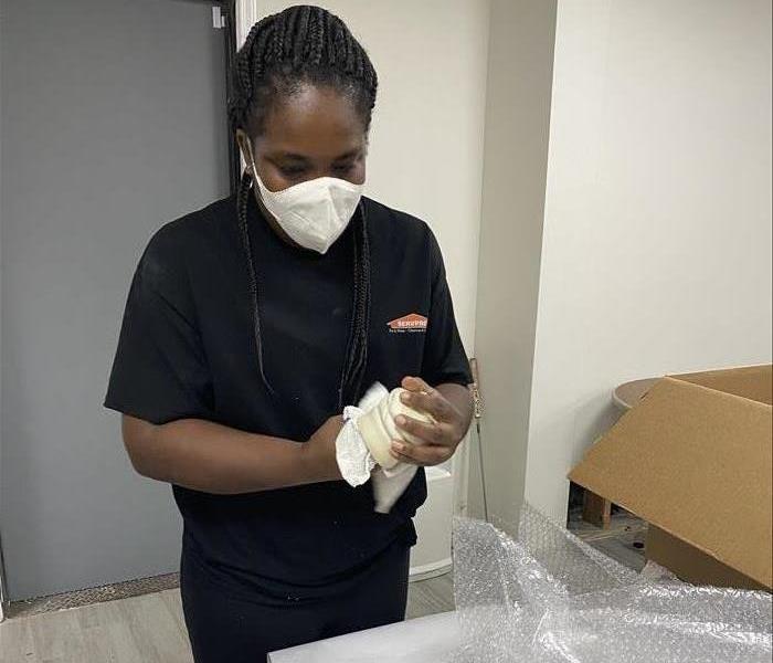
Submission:
[[[348,406],[343,409],[346,423],[336,439],[336,460],[345,481],[351,486],[359,486],[371,478],[373,481],[373,497],[375,499],[374,511],[382,514],[389,513],[400,495],[403,494],[416,473],[417,466],[413,463],[395,461],[391,456],[391,467],[384,469],[378,465],[369,449],[369,444],[363,438],[364,431],[360,431],[357,420],[363,414],[371,412],[371,410],[374,410],[374,414],[375,411],[383,410],[383,412],[379,413],[383,423],[382,427],[379,427],[383,429],[381,436],[391,433],[398,438],[406,439],[406,434],[395,429],[392,421],[392,411],[398,407],[396,403],[400,403],[399,409],[401,412],[405,412],[411,417],[420,420],[431,420],[431,418],[423,412],[417,412],[404,406],[399,399],[402,391],[402,389],[395,389],[390,393],[383,385],[375,382],[368,389],[360,402],[357,403],[357,407]],[[384,420],[385,418],[389,419]],[[374,433],[371,432],[371,428],[368,428],[368,433],[366,434],[373,436]],[[396,434],[395,431],[398,431]],[[415,438],[411,438],[407,441],[417,442]],[[383,442],[383,440],[379,440],[380,449],[382,450]],[[391,440],[388,443],[391,443]],[[373,440],[371,440],[370,446],[377,448]]]

